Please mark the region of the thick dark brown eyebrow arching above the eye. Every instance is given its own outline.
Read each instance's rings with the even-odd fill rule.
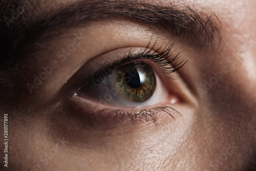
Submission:
[[[90,21],[111,19],[130,20],[173,36],[193,38],[192,41],[204,46],[221,42],[218,23],[214,22],[212,15],[200,15],[187,6],[163,7],[138,1],[89,0],[76,2],[25,29],[13,41],[10,53],[15,55],[15,52],[37,40],[52,37],[62,28],[81,27]]]

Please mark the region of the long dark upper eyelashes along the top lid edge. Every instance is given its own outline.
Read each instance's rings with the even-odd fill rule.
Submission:
[[[160,67],[162,72],[168,77],[168,74],[173,73],[178,71],[181,67],[185,65],[187,60],[184,62],[184,60],[179,62],[179,54],[178,53],[176,56],[172,57],[172,54],[170,54],[170,51],[172,50],[175,42],[168,44],[165,46],[165,48],[162,50],[162,52],[157,53],[161,49],[158,48],[156,51],[153,49],[156,47],[157,42],[154,43],[151,49],[148,50],[148,47],[150,47],[151,42],[148,43],[146,46],[145,50],[142,53],[139,54],[132,54],[132,52],[129,52],[128,55],[126,55],[122,60],[115,62],[111,67],[108,69],[102,71],[100,74],[94,76],[93,78],[89,79],[89,81],[83,81],[73,92],[72,95],[78,94],[82,92],[84,89],[90,88],[91,85],[93,84],[99,84],[101,80],[105,77],[108,77],[110,74],[112,74],[113,70],[120,67],[123,63],[133,61],[133,60],[138,60],[138,59],[148,59],[150,61],[153,61],[157,63],[157,65]],[[152,53],[152,51],[154,51]],[[172,67],[166,67],[170,65],[170,63],[174,63]]]

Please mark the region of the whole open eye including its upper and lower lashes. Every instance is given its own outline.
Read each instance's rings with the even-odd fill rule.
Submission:
[[[170,54],[172,47],[173,44],[160,53],[147,48],[126,48],[123,50],[126,53],[121,55],[115,56],[112,52],[99,56],[98,59],[104,59],[114,55],[113,63],[82,80],[72,91],[72,97],[82,104],[81,111],[88,114],[93,109],[90,114],[94,116],[102,116],[102,111],[108,111],[108,116],[133,116],[135,113],[153,116],[156,111],[164,111],[173,117],[174,112],[179,112],[170,104],[181,98],[170,83],[174,83],[171,74],[185,62],[178,61],[178,55]],[[122,56],[120,60],[118,56]]]

